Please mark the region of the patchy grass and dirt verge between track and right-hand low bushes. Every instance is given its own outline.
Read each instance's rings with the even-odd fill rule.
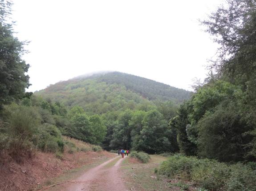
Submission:
[[[127,157],[121,166],[122,177],[128,190],[135,191],[196,191],[196,187],[189,181],[169,179],[156,172],[167,157],[150,155],[148,163],[142,163],[133,157]]]

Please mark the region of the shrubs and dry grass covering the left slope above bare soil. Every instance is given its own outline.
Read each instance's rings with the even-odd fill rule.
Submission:
[[[46,110],[17,104],[5,106],[0,118],[0,156],[8,153],[22,163],[32,158],[37,149],[53,152],[61,160],[65,150],[70,154],[102,151],[101,146],[63,137]]]

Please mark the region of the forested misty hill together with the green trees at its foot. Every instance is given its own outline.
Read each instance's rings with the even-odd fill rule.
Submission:
[[[103,148],[134,148],[154,153],[178,150],[175,131],[168,121],[191,92],[130,74],[108,72],[59,82],[35,95],[49,104],[52,100],[61,102],[69,113],[76,114],[72,119],[68,113],[65,118],[69,122],[59,127],[67,136],[95,143],[89,140],[95,137],[89,133],[95,129],[90,130],[86,121],[97,115],[106,127],[105,133],[98,132],[105,137],[99,141]],[[83,133],[82,127],[86,129]]]

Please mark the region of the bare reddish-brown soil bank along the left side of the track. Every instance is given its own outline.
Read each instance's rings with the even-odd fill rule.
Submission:
[[[113,158],[109,152],[64,153],[64,160],[57,159],[53,153],[36,152],[31,159],[17,164],[8,155],[2,155],[0,163],[0,191],[33,191],[44,187],[45,182],[63,172],[95,163],[95,159]]]

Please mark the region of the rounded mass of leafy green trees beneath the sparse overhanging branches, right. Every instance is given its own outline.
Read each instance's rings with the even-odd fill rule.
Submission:
[[[252,160],[254,112],[245,108],[244,98],[240,86],[222,80],[199,88],[170,123],[181,152],[227,162]]]

